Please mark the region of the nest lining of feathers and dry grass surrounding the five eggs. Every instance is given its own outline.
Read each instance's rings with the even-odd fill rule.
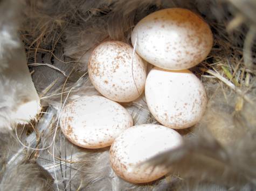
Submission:
[[[44,108],[37,121],[14,132],[0,132],[0,189],[256,188],[253,0],[243,6],[232,0],[27,0],[11,1],[10,8],[17,9],[17,4],[24,18],[20,35]],[[191,69],[202,80],[209,102],[195,127],[178,130],[185,138],[181,148],[149,161],[165,165],[170,174],[133,185],[114,174],[109,148],[88,150],[68,142],[59,129],[59,113],[67,102],[97,94],[87,76],[87,62],[98,43],[105,39],[130,43],[130,32],[141,18],[171,7],[190,9],[211,26],[215,45],[206,60]],[[123,106],[135,124],[157,123],[143,98]]]

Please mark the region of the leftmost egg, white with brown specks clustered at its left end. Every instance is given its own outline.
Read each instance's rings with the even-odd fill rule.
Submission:
[[[66,138],[88,149],[111,145],[131,126],[133,119],[127,110],[102,96],[80,97],[67,104],[60,116],[60,128]]]

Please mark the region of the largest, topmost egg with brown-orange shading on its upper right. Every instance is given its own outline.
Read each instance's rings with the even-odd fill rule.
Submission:
[[[209,25],[197,14],[171,8],[140,20],[132,32],[132,43],[149,63],[163,69],[183,70],[206,58],[213,37]]]

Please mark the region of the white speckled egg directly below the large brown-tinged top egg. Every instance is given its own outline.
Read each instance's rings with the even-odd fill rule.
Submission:
[[[196,124],[206,108],[206,92],[189,70],[164,70],[154,67],[145,86],[149,111],[164,126],[173,129]]]

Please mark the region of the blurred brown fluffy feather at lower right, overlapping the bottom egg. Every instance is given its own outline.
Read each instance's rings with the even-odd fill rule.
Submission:
[[[252,166],[256,165],[253,162],[256,123],[245,119],[245,116],[250,119],[254,116],[255,106],[245,104],[242,111],[234,113],[233,95],[224,104],[225,98],[219,94],[210,101],[198,127],[191,130],[195,135],[186,137],[180,148],[150,159],[148,165],[164,165],[170,172],[198,182],[255,189],[256,171]]]

